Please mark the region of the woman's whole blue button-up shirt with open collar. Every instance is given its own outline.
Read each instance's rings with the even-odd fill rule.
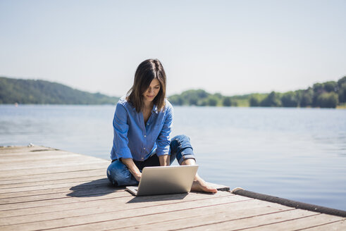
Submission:
[[[154,151],[157,156],[168,155],[171,144],[173,106],[166,100],[166,106],[158,111],[154,105],[152,115],[144,124],[143,113],[137,113],[125,96],[116,104],[113,119],[113,148],[111,159],[132,158],[144,161]]]

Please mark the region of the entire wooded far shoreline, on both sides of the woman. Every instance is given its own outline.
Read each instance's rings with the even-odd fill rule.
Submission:
[[[0,104],[115,104],[118,97],[82,92],[66,85],[44,80],[20,80],[0,77]],[[316,83],[294,92],[223,96],[203,89],[191,89],[169,97],[181,106],[266,106],[320,107],[346,106],[346,76],[337,82]]]

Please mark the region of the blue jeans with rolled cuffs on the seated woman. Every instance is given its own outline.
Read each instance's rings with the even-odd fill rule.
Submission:
[[[177,158],[179,164],[188,158],[194,158],[192,146],[190,144],[190,138],[186,135],[178,135],[173,137],[170,144],[170,164]],[[140,171],[144,167],[160,166],[159,157],[156,154],[150,156],[145,161],[133,161]],[[107,177],[113,185],[125,186],[125,185],[138,185],[138,181],[130,173],[128,167],[120,160],[113,161],[107,168]]]

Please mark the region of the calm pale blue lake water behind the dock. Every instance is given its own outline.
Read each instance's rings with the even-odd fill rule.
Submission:
[[[0,146],[109,159],[115,106],[0,106]],[[346,110],[175,106],[205,180],[346,210]]]

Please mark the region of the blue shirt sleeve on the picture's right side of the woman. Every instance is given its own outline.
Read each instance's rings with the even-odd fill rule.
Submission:
[[[171,130],[173,125],[173,107],[166,108],[166,118],[163,127],[156,139],[157,149],[156,155],[163,156],[169,154],[169,145],[171,144]]]

